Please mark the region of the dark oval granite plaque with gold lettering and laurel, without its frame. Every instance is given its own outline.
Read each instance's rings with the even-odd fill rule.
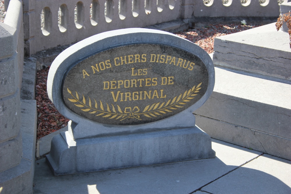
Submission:
[[[62,92],[66,106],[83,117],[134,125],[180,113],[207,86],[207,68],[194,54],[168,45],[132,44],[73,64]]]

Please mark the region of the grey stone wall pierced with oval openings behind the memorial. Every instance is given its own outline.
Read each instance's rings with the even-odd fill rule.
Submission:
[[[6,0],[9,1],[9,0]],[[6,2],[5,1],[5,2]],[[285,0],[286,2],[288,0]],[[277,0],[24,0],[25,54],[79,42],[92,35],[202,17],[278,17]],[[6,3],[7,4],[7,3]],[[190,20],[189,20],[190,22]]]

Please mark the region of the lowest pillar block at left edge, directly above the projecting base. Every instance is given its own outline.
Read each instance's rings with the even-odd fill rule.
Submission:
[[[0,172],[18,165],[22,156],[22,136],[0,143]]]

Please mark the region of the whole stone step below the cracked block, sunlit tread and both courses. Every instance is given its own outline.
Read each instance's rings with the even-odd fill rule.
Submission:
[[[196,124],[212,138],[291,159],[291,85],[215,67]]]

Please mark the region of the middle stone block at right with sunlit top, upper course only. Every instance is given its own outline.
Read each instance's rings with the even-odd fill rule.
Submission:
[[[290,84],[217,67],[215,74],[213,93],[195,114],[290,138]]]

